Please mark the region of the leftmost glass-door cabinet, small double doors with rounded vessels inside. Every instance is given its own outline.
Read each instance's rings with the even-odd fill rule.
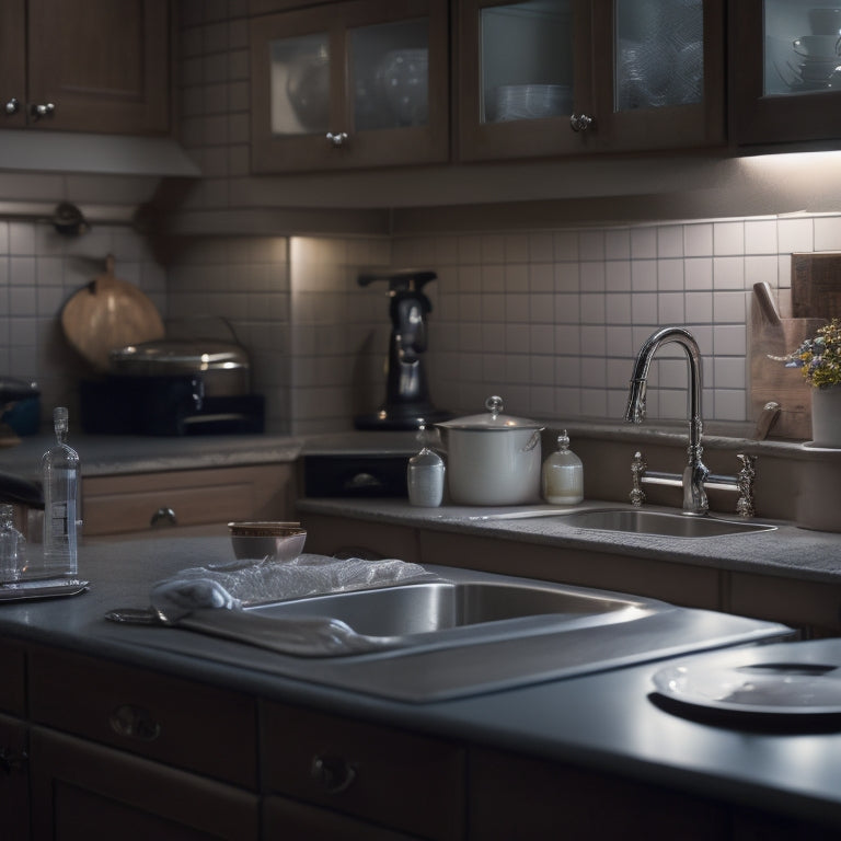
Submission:
[[[447,161],[447,0],[253,18],[253,172]]]

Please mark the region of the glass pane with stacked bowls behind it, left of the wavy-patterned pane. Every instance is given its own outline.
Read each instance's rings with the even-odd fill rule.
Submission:
[[[482,10],[482,123],[573,112],[569,0],[530,0]]]

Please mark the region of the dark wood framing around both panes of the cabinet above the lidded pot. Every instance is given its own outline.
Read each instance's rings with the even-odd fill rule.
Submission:
[[[703,50],[703,74],[699,101],[687,104],[620,107],[615,7],[611,0],[555,3],[563,14],[546,15],[550,3],[511,3],[509,0],[464,0],[459,3],[459,158],[464,161],[545,158],[588,152],[678,149],[722,145],[724,135],[724,2],[704,0],[703,41],[684,47]],[[528,7],[528,9],[527,9]],[[700,7],[699,7],[700,8]],[[521,9],[522,11],[518,10]],[[510,16],[499,26],[499,51],[518,39],[528,45],[541,42],[553,20],[558,36],[550,49],[568,53],[556,72],[569,85],[568,110],[542,119],[494,119],[483,107],[483,68],[494,60],[485,53],[480,22],[483,12],[505,10]],[[562,41],[565,36],[566,41]],[[699,27],[701,36],[701,27]],[[510,42],[509,42],[510,39]],[[654,54],[668,61],[665,51]],[[680,57],[678,54],[677,58]],[[558,60],[560,61],[560,60]],[[700,57],[695,56],[695,61]],[[508,72],[515,72],[509,69]],[[535,72],[540,72],[535,70]],[[545,72],[545,71],[543,71]],[[664,74],[676,68],[664,66]],[[520,85],[525,88],[525,85]],[[584,120],[584,122],[581,122]],[[575,123],[575,127],[574,124]],[[577,130],[576,130],[577,128]]]

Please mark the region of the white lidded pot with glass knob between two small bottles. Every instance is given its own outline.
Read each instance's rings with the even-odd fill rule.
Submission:
[[[484,415],[436,424],[447,450],[447,485],[457,505],[526,505],[540,499],[543,427],[500,414],[488,398]]]

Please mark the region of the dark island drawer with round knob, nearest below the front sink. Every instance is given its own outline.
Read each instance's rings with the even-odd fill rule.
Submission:
[[[428,839],[464,833],[464,752],[441,739],[266,703],[264,784]]]

